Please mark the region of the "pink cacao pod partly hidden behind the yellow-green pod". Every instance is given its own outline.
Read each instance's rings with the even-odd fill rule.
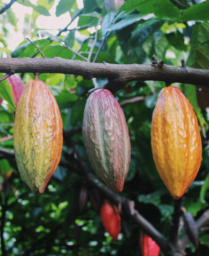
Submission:
[[[17,103],[24,88],[22,78],[18,74],[14,74],[7,78],[7,82],[12,87],[12,96],[14,104],[17,107]]]

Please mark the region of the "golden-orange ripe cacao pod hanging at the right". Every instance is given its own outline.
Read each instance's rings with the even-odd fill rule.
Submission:
[[[181,198],[202,159],[197,116],[182,91],[163,88],[152,114],[151,147],[155,165],[171,195]]]

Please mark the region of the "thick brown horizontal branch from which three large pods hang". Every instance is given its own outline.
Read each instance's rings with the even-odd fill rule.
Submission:
[[[110,64],[88,63],[80,60],[67,60],[59,57],[40,58],[0,58],[0,72],[9,73],[62,73],[83,76],[85,80],[93,77],[108,78],[105,85],[112,93],[130,81],[164,81],[209,86],[209,70],[170,66],[163,64]]]

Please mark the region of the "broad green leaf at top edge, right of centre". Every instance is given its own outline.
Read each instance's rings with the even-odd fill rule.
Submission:
[[[178,19],[180,10],[169,0],[129,0],[125,2],[120,11],[139,10],[142,14],[154,13],[158,18]]]

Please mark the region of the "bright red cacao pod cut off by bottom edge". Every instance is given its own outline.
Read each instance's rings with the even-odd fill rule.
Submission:
[[[160,247],[150,236],[140,230],[140,249],[143,256],[159,256]]]

